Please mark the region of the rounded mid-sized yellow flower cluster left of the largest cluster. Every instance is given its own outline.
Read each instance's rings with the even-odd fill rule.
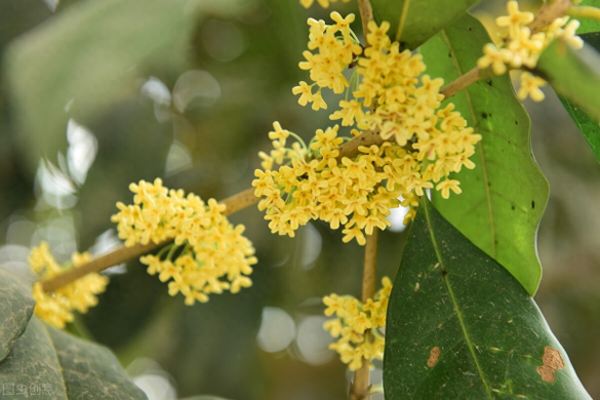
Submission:
[[[169,190],[160,179],[154,184],[131,184],[134,204],[117,203],[119,237],[126,246],[174,240],[157,255],[140,257],[148,273],[169,282],[169,294],[182,293],[185,304],[207,302],[208,294],[250,287],[254,247],[242,236],[244,225],[233,226],[224,215],[225,206],[215,199],[208,204],[193,193]]]

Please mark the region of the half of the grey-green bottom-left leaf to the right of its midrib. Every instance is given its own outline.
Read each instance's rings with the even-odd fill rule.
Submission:
[[[56,348],[69,400],[146,399],[118,360],[104,347],[48,327]]]

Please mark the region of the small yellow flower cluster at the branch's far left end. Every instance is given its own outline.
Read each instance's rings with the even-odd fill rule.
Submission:
[[[79,267],[92,259],[89,252],[75,253],[71,256],[71,266]],[[41,242],[31,250],[28,258],[31,269],[40,276],[40,281],[34,283],[33,297],[35,300],[34,313],[52,326],[62,328],[65,323],[73,321],[73,310],[87,312],[90,307],[98,304],[95,296],[106,289],[109,278],[98,273],[88,273],[82,278],[61,287],[53,293],[46,293],[41,281],[53,278],[68,269],[61,266],[50,254],[48,243]]]

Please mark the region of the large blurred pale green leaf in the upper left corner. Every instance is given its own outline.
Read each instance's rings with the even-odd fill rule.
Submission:
[[[13,41],[6,71],[30,168],[65,147],[69,118],[86,124],[159,65],[181,69],[199,17],[235,1],[82,1]]]

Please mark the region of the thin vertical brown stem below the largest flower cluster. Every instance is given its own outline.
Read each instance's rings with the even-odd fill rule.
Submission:
[[[362,303],[373,299],[377,288],[377,239],[379,229],[375,228],[373,234],[367,235],[365,244],[365,263],[362,271]],[[365,340],[370,340],[371,333],[365,332]],[[350,400],[366,400],[369,398],[369,363],[370,360],[362,359],[361,368],[354,372],[354,381],[350,385]]]

